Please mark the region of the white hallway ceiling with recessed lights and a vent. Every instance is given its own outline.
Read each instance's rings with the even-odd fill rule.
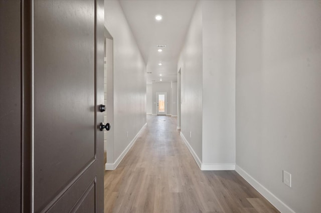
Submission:
[[[146,83],[177,81],[178,56],[197,0],[119,2],[146,62],[146,71],[152,72],[147,73]],[[161,14],[163,19],[157,21],[156,14]],[[157,44],[166,44],[166,47],[158,52]],[[159,66],[159,62],[163,65]]]

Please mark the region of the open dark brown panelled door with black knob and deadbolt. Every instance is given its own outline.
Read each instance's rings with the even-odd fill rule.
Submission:
[[[2,103],[11,102],[1,109],[22,108],[17,107],[20,120],[12,122],[18,134],[0,138],[1,145],[12,147],[1,164],[10,162],[11,153],[20,156],[13,168],[21,176],[11,181],[20,198],[4,199],[1,207],[10,212],[19,203],[23,212],[103,212],[103,114],[98,107],[104,101],[103,0],[22,0],[13,7],[21,8],[11,15],[21,20],[13,34],[21,35],[17,49],[22,65],[16,76],[9,74],[10,63],[1,71],[8,85],[22,89],[13,86],[20,91],[16,98],[2,96]],[[1,117],[2,126],[6,119]],[[1,179],[10,178],[7,171],[9,166],[1,170]]]

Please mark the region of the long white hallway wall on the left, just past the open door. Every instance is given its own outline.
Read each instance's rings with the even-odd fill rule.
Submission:
[[[146,123],[146,71],[118,0],[105,0],[105,26],[114,41],[114,163]]]

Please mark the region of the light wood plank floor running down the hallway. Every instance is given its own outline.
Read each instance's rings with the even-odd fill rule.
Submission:
[[[115,170],[105,172],[107,212],[279,212],[236,171],[202,171],[176,117],[147,125]]]

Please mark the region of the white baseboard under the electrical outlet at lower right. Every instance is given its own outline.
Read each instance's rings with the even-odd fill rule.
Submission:
[[[289,206],[282,202],[271,191],[265,188],[261,183],[254,179],[250,174],[243,170],[240,166],[235,166],[235,171],[239,173],[250,185],[252,185],[260,194],[262,194],[272,205],[283,213],[295,213]]]

